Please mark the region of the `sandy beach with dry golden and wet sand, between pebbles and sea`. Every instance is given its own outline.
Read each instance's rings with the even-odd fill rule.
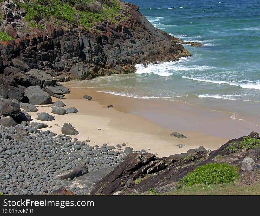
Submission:
[[[168,157],[204,146],[217,149],[228,140],[249,134],[254,125],[232,120],[225,113],[202,110],[179,102],[160,99],[135,99],[111,95],[84,88],[74,88],[62,100],[66,107],[76,107],[78,113],[53,115],[55,120],[37,120],[38,112],[30,112],[33,121],[47,123],[54,133],[60,134],[64,122],[71,123],[79,131],[74,136],[79,141],[90,140],[91,145],[103,143],[116,146],[126,143],[135,150]],[[90,95],[92,100],[82,99]],[[55,102],[58,99],[52,98]],[[107,108],[108,105],[113,105]],[[38,107],[39,112],[51,114],[51,107]],[[159,111],[158,111],[159,110]],[[101,129],[101,130],[99,130]],[[173,131],[183,133],[188,139],[171,137]],[[183,144],[179,148],[178,144]],[[127,147],[125,146],[125,147]]]

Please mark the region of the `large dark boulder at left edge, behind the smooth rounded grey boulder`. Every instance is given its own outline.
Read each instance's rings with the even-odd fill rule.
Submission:
[[[0,74],[0,95],[4,98],[26,102],[25,88],[17,85],[15,80]]]

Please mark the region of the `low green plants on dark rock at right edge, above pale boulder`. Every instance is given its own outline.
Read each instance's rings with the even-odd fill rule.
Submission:
[[[240,142],[233,142],[226,147],[227,150],[231,152],[242,151],[243,149],[253,149],[255,147],[260,147],[260,140],[256,138],[251,138],[250,136],[244,137]]]

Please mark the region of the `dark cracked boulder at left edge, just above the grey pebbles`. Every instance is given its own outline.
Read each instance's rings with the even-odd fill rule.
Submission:
[[[14,119],[18,119],[21,116],[20,104],[9,99],[4,99],[1,102],[0,112],[3,116],[11,116]]]

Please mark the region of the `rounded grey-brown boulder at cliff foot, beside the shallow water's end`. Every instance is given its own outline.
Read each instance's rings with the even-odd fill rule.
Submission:
[[[71,80],[86,80],[92,78],[90,70],[83,62],[73,65],[70,69]]]

